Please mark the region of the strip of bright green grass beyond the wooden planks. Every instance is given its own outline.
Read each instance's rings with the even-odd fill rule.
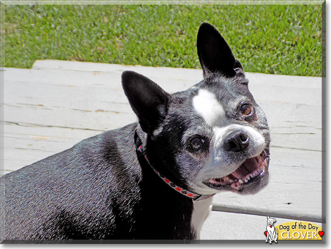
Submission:
[[[36,59],[200,68],[207,21],[246,72],[321,76],[321,6],[5,5],[5,67]]]

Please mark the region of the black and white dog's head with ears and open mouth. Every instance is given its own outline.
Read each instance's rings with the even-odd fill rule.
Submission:
[[[170,95],[145,76],[125,71],[125,94],[148,134],[148,150],[162,165],[160,172],[201,195],[255,193],[268,179],[265,114],[240,62],[212,25],[201,24],[197,49],[200,83]]]

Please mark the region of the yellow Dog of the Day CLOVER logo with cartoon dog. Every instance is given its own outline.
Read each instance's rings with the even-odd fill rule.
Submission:
[[[272,241],[277,243],[278,240],[322,240],[324,232],[322,228],[314,223],[295,221],[282,223],[273,226],[276,220],[267,217],[267,231],[265,235],[267,239],[265,242],[271,244]]]

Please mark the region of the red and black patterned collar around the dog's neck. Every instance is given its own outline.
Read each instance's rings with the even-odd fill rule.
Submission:
[[[137,145],[138,146],[138,145]],[[137,152],[140,154],[140,155],[144,155],[146,161],[148,162],[148,164],[151,166],[151,168],[155,171],[155,173],[164,181],[166,182],[169,186],[171,186],[171,188],[173,188],[174,190],[176,190],[177,192],[181,193],[182,195],[186,196],[186,197],[189,197],[191,199],[193,199],[194,201],[200,201],[200,200],[205,200],[207,198],[210,198],[212,196],[214,196],[215,194],[213,195],[199,195],[199,194],[196,194],[196,193],[193,193],[193,192],[190,192],[190,191],[187,191],[187,190],[184,190],[183,188],[181,188],[180,186],[176,185],[175,183],[173,183],[171,180],[169,180],[167,177],[163,176],[158,170],[156,170],[149,162],[148,160],[148,157],[146,155],[146,153],[143,153],[143,144],[141,143],[139,145],[139,147],[137,147]]]

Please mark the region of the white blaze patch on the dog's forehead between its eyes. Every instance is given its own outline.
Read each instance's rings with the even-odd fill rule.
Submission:
[[[193,98],[193,105],[208,126],[214,126],[226,118],[225,111],[216,96],[206,89],[199,89],[198,95]]]

